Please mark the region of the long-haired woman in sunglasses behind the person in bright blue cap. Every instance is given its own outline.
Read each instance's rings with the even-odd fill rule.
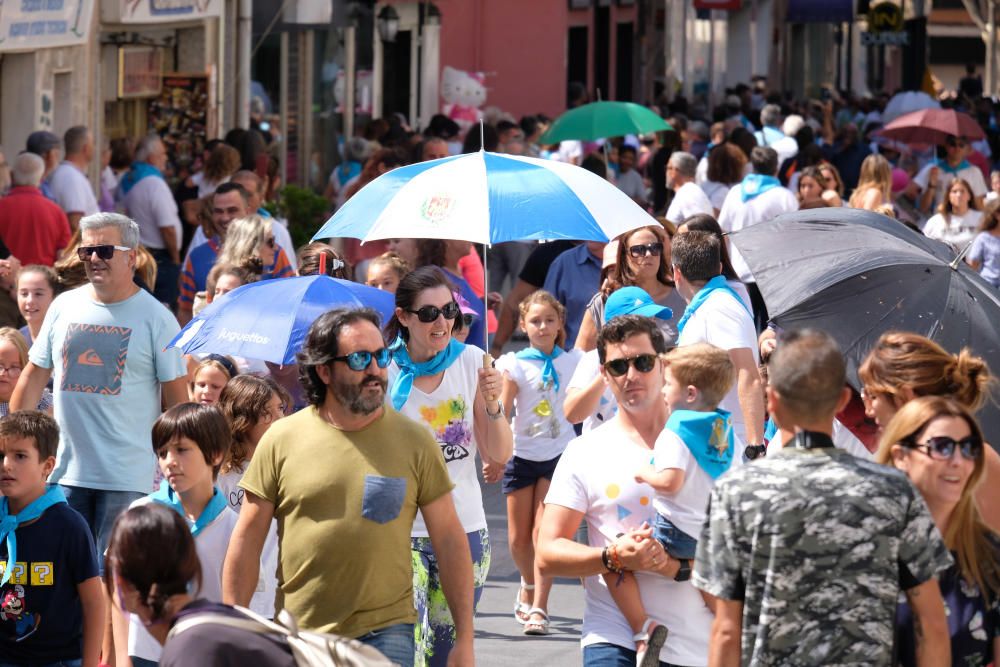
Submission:
[[[677,340],[677,321],[687,305],[674,289],[670,277],[670,239],[662,225],[649,225],[618,237],[618,258],[601,288],[583,315],[575,347],[589,352],[597,347],[597,334],[604,322],[604,303],[622,287],[641,287],[653,301],[673,311],[669,320],[657,320],[668,345]]]

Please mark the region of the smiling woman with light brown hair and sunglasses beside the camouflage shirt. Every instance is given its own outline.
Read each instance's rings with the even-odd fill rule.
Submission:
[[[985,473],[983,435],[958,401],[925,396],[892,418],[876,460],[906,473],[920,491],[954,564],[939,575],[953,665],[1000,659],[1000,538],[976,509]],[[906,588],[905,582],[903,588]],[[897,662],[916,665],[917,630],[908,602],[896,613]]]

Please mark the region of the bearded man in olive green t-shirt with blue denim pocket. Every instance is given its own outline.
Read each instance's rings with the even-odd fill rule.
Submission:
[[[246,497],[223,599],[249,603],[276,518],[276,611],[412,665],[410,529],[419,509],[455,619],[449,664],[471,665],[472,557],[453,485],[426,429],[385,407],[388,364],[374,311],[333,310],[309,329],[299,368],[311,405],[265,433],[240,482]]]

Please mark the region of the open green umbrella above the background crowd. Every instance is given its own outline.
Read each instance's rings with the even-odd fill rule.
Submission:
[[[591,102],[556,118],[539,143],[556,144],[576,139],[594,141],[626,134],[672,130],[655,112],[632,102]]]

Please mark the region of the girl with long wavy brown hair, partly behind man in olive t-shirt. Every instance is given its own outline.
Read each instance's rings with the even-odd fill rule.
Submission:
[[[216,485],[226,497],[229,508],[239,514],[243,509],[240,480],[250,465],[257,443],[271,424],[285,416],[291,397],[271,378],[237,375],[226,383],[219,396],[218,408],[229,424],[233,442],[222,461]],[[274,617],[274,595],[278,590],[278,522],[271,527],[260,552],[260,576],[250,599],[250,609],[265,618]]]

